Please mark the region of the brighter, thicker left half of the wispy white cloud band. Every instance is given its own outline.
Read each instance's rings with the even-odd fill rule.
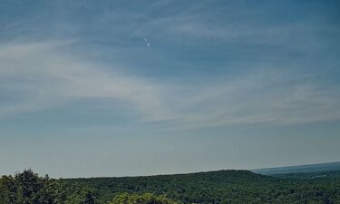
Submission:
[[[141,79],[105,72],[102,64],[63,53],[67,42],[7,44],[0,48],[4,97],[21,95],[2,104],[1,115],[34,112],[91,98],[111,98],[133,104],[148,120],[164,117],[159,88]],[[153,111],[157,110],[157,111]],[[163,116],[162,116],[163,115]]]

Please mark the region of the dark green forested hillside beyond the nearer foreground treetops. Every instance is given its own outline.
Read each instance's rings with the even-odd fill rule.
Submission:
[[[102,203],[120,192],[165,195],[184,203],[328,203],[340,204],[340,178],[296,180],[248,170],[65,180],[98,189]]]

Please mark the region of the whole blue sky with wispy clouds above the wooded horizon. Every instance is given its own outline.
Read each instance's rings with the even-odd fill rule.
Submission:
[[[338,1],[0,1],[0,174],[340,160]]]

